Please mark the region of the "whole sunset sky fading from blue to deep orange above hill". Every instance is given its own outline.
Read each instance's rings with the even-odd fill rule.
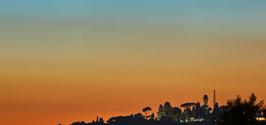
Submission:
[[[0,1],[0,124],[266,99],[266,1]],[[151,114],[151,112],[149,112]]]

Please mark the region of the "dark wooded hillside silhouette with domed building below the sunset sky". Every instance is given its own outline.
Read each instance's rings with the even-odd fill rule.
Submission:
[[[171,107],[170,103],[166,102],[165,106],[160,105],[158,114],[167,112],[163,116],[154,117],[154,113],[148,115],[148,111],[151,111],[150,107],[144,108],[142,113],[131,114],[128,116],[116,116],[109,118],[104,122],[103,118],[97,116],[96,121],[86,123],[84,121],[73,122],[70,125],[163,125],[163,124],[218,124],[218,125],[262,125],[266,124],[265,114],[266,105],[263,101],[256,102],[255,94],[251,94],[249,101],[246,99],[242,101],[241,97],[237,95],[236,99],[228,100],[226,106],[220,106],[215,103],[214,108],[207,108],[208,106],[201,106],[200,103],[185,103],[180,107],[184,108],[184,111],[179,107]],[[170,110],[169,110],[170,109]],[[258,119],[261,118],[261,119]],[[58,124],[61,125],[61,124]]]

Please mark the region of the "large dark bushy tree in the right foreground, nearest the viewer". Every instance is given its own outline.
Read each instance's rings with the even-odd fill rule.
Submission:
[[[258,123],[256,120],[256,114],[261,108],[262,101],[258,104],[255,104],[256,96],[254,93],[249,97],[249,101],[245,99],[242,101],[241,97],[237,95],[236,99],[228,100],[227,107],[228,110],[223,114],[219,115],[220,121],[218,124],[247,124],[255,125]]]

